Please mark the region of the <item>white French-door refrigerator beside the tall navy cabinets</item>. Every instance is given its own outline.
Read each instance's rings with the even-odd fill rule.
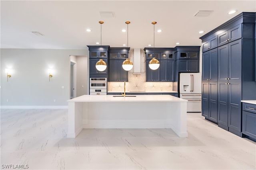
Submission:
[[[188,100],[187,112],[202,111],[201,73],[180,73],[180,98]]]

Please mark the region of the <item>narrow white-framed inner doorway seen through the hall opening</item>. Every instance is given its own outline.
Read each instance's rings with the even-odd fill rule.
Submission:
[[[70,61],[70,99],[76,98],[76,62]]]

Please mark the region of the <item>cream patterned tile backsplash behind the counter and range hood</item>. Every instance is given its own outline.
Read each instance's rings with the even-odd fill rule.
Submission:
[[[129,51],[129,59],[134,63],[134,49]],[[140,72],[134,74],[134,70],[128,73],[126,92],[172,92],[172,82],[146,82],[145,53],[140,49]],[[123,92],[124,82],[108,82],[108,92]]]

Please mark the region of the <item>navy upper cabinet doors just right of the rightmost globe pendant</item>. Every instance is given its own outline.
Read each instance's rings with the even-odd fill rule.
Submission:
[[[161,82],[174,81],[174,60],[160,60]]]

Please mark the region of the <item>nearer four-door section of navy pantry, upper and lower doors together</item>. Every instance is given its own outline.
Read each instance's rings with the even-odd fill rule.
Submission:
[[[241,61],[242,39],[218,47],[218,123],[220,127],[239,136],[242,100]]]

